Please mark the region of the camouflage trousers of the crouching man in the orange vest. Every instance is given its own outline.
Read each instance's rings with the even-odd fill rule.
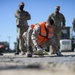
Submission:
[[[23,38],[24,38],[24,40],[25,40],[25,42],[26,42],[26,44],[27,44],[27,47],[29,47],[29,46],[32,46],[32,47],[33,47],[34,44],[33,44],[32,40],[31,40],[31,36],[27,36],[27,35],[30,35],[30,34],[27,33],[27,32],[25,32],[25,33],[23,34]],[[27,43],[28,41],[29,41],[29,43]],[[57,51],[58,51],[58,45],[57,45],[56,40],[55,40],[54,37],[50,38],[50,39],[49,39],[48,41],[46,41],[46,42],[40,43],[39,45],[40,45],[42,48],[49,47],[50,45],[52,45],[52,48],[53,48],[54,53],[57,53]]]

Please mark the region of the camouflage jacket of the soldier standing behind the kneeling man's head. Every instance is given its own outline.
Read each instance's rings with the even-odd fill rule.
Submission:
[[[49,17],[51,17],[54,20],[55,28],[59,32],[61,31],[62,25],[65,26],[65,17],[61,13],[52,13]]]

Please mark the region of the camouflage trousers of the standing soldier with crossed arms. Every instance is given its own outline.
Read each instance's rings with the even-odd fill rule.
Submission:
[[[19,53],[20,51],[23,52],[23,53],[26,52],[25,41],[22,38],[22,35],[26,30],[24,28],[17,28],[17,33],[18,33],[18,36],[17,36],[17,48],[16,48],[17,53]]]

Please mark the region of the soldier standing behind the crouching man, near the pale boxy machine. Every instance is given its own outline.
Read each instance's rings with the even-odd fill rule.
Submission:
[[[49,17],[51,17],[54,20],[54,24],[55,24],[54,34],[60,49],[61,30],[62,28],[65,28],[65,17],[59,11],[60,11],[60,6],[56,6],[55,12],[53,12]]]

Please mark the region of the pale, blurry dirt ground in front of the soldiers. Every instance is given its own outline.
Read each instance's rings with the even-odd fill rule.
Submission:
[[[0,75],[75,75],[75,52],[62,52],[62,57],[5,53],[0,56]]]

